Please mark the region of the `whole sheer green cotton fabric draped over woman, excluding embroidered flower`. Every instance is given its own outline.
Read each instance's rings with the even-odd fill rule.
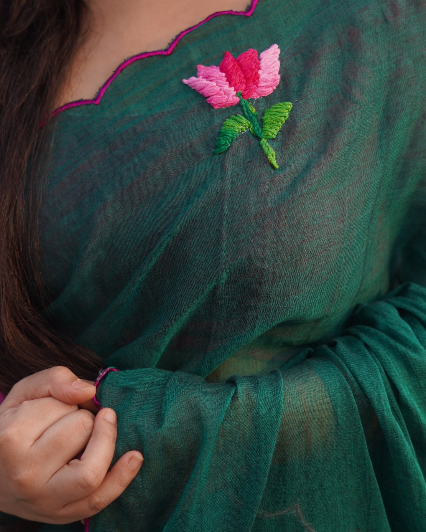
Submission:
[[[275,43],[278,170],[182,82]],[[425,52],[422,1],[260,0],[54,119],[45,315],[145,458],[90,532],[426,531]]]

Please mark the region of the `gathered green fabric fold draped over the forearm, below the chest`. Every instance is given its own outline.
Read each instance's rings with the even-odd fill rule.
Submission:
[[[90,530],[142,519],[140,529],[170,532],[211,520],[224,531],[269,522],[423,532],[425,323],[426,289],[407,283],[357,306],[344,335],[283,371],[217,384],[178,371],[109,373],[99,396],[118,414],[116,458],[136,448],[145,462]],[[318,485],[333,494],[328,508]]]

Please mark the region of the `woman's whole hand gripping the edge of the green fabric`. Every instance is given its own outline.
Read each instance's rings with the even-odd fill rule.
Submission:
[[[117,437],[113,410],[96,417],[78,404],[95,387],[61,366],[15,384],[0,405],[0,510],[65,524],[91,517],[117,498],[143,456],[129,451],[111,471]],[[73,459],[85,448],[81,460]]]

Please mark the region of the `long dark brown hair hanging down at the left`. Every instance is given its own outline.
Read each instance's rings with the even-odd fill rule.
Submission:
[[[48,141],[50,115],[87,34],[86,15],[84,0],[0,0],[0,390],[4,393],[23,377],[54,365],[65,365],[91,380],[101,367],[95,353],[59,335],[40,315],[49,301],[37,220],[53,145],[53,135]]]

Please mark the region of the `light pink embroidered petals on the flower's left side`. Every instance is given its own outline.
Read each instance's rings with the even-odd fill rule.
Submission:
[[[182,81],[206,96],[207,102],[215,109],[230,107],[239,103],[240,98],[235,95],[235,90],[230,87],[225,74],[220,72],[218,66],[197,65],[197,71],[198,77],[192,76]]]

